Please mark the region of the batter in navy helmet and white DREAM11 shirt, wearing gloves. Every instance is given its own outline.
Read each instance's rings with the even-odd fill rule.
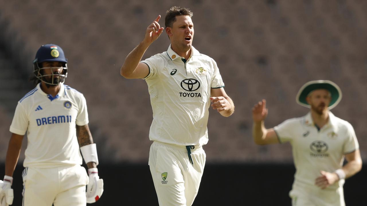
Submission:
[[[12,176],[25,133],[23,206],[85,206],[103,193],[86,99],[63,84],[68,74],[66,63],[58,45],[42,45],[37,51],[33,61],[36,88],[19,100],[10,126],[5,176],[0,183],[1,206],[12,204]],[[79,147],[89,177],[80,166]]]

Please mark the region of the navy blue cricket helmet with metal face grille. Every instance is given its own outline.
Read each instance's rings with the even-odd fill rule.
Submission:
[[[42,62],[61,62],[62,67],[42,67]],[[65,58],[64,51],[56,44],[42,45],[33,60],[33,74],[40,81],[50,85],[63,84],[68,76],[68,59]],[[54,73],[53,70],[61,69],[61,73]],[[44,69],[50,69],[51,74],[44,74]]]

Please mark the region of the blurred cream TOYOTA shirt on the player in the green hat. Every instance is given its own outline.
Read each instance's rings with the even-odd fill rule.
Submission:
[[[296,168],[293,190],[315,188],[315,179],[320,170],[334,172],[342,168],[344,154],[359,148],[352,125],[335,117],[329,111],[329,122],[320,131],[313,124],[311,114],[288,119],[274,127],[281,143],[289,141],[292,145],[293,160]],[[342,187],[344,180],[330,185],[328,189]]]

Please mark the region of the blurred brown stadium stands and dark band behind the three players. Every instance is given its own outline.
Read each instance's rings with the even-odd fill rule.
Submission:
[[[66,84],[87,99],[105,193],[94,205],[158,205],[147,165],[152,110],[143,80],[120,66],[146,27],[173,5],[193,11],[193,45],[218,63],[236,105],[229,118],[210,111],[207,165],[197,205],[290,205],[294,174],[289,144],[256,146],[251,107],[265,98],[272,127],[307,108],[295,103],[307,81],[328,79],[343,99],[333,113],[355,128],[367,160],[367,1],[364,0],[0,0],[0,176],[17,101],[34,86],[32,60],[42,44],[68,58]],[[159,22],[164,26],[164,18]],[[164,34],[143,59],[167,50]],[[22,161],[14,174],[21,205]],[[347,205],[365,205],[367,171],[345,184]]]

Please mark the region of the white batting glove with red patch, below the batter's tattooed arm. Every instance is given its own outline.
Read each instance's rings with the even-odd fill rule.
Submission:
[[[103,179],[99,179],[98,169],[88,169],[89,183],[87,185],[87,203],[97,202],[103,194]]]

